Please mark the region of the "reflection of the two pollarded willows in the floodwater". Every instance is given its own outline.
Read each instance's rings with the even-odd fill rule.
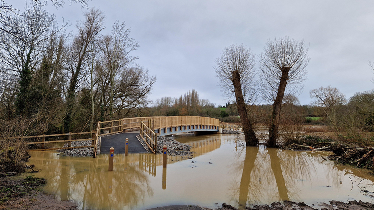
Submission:
[[[313,155],[305,152],[244,147],[237,155],[244,155],[244,160],[238,157],[242,161],[231,166],[233,177],[241,179],[232,181],[230,203],[237,203],[239,209],[243,209],[246,203],[297,200],[300,189],[296,188],[296,182],[317,173]]]

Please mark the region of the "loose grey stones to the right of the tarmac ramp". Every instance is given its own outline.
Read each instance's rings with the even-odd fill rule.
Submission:
[[[138,139],[140,143],[144,146],[144,148],[148,151],[151,152],[151,149],[148,148],[147,144],[144,142],[143,139],[141,139],[140,136],[138,136]],[[160,154],[162,153],[163,146],[168,147],[168,155],[176,156],[176,155],[181,155],[181,156],[186,156],[186,155],[192,155],[195,152],[191,152],[191,146],[178,142],[172,137],[164,137],[164,136],[159,136],[157,137],[157,153]]]

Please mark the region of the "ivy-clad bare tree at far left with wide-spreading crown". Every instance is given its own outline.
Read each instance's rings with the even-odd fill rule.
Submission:
[[[49,46],[50,40],[61,33],[65,25],[58,27],[55,16],[36,5],[27,7],[22,16],[10,19],[8,24],[18,33],[0,31],[0,68],[19,82],[15,106],[16,113],[23,115],[28,101],[32,101],[28,87],[33,74],[47,50],[53,51]]]

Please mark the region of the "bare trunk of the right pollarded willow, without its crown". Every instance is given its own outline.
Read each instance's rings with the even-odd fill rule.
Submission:
[[[283,68],[281,81],[279,82],[277,96],[273,104],[272,121],[269,127],[268,147],[276,147],[278,139],[279,120],[281,118],[282,101],[288,80],[289,68]]]

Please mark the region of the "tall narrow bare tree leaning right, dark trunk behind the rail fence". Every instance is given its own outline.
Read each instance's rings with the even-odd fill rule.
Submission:
[[[74,112],[74,101],[77,87],[87,75],[82,74],[85,70],[83,65],[88,58],[89,46],[92,40],[100,33],[104,23],[104,15],[101,10],[90,9],[85,12],[85,21],[77,24],[78,34],[74,36],[70,50],[70,64],[68,70],[69,84],[67,87],[67,110],[64,118],[64,132],[69,132],[71,119]]]

